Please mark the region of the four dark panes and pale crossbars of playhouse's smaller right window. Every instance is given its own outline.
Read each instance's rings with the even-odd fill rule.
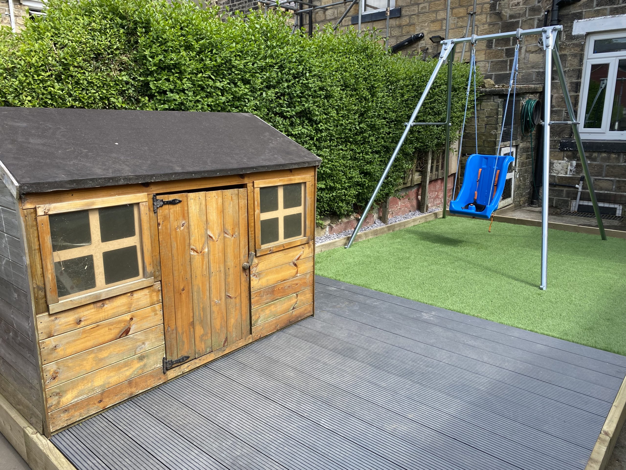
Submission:
[[[262,247],[304,237],[304,191],[304,183],[260,188]]]

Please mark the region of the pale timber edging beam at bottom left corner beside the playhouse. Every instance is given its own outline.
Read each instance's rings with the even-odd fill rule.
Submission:
[[[76,470],[3,395],[0,395],[0,432],[33,470]]]

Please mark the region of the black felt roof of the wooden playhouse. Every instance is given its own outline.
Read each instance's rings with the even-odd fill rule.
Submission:
[[[21,194],[321,162],[248,113],[0,107],[0,132]]]

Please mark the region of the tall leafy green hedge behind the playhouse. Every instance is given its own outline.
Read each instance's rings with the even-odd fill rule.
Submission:
[[[322,158],[318,216],[364,206],[435,63],[391,56],[353,29],[309,38],[282,13],[227,16],[190,1],[49,0],[46,13],[21,34],[2,28],[1,104],[255,113]],[[467,73],[454,68],[454,132]],[[444,117],[445,78],[419,120]],[[381,196],[414,150],[443,138],[412,130]]]

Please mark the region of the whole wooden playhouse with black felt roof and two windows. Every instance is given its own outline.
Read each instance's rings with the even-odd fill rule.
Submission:
[[[0,394],[46,436],[313,313],[315,155],[248,113],[0,108]]]

